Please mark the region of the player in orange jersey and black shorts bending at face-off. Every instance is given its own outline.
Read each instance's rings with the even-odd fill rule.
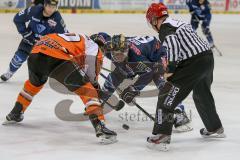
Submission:
[[[97,78],[102,60],[98,45],[85,35],[66,33],[42,37],[28,58],[29,79],[4,124],[21,122],[33,97],[51,77],[82,99],[86,107],[85,115],[89,116],[101,142],[116,142],[117,134],[105,127],[98,96]]]

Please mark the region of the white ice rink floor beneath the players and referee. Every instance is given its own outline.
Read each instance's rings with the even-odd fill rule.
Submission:
[[[12,23],[13,14],[0,14],[0,73],[5,72],[21,36]],[[135,15],[64,15],[69,31],[92,34],[156,35],[142,14]],[[189,21],[189,15],[173,15]],[[55,105],[64,99],[74,100],[72,113],[83,112],[76,96],[62,95],[48,85],[35,97],[25,113],[25,119],[15,126],[0,125],[0,160],[237,160],[240,157],[240,18],[239,15],[213,15],[212,33],[223,57],[215,55],[212,91],[218,113],[227,134],[226,139],[203,139],[199,129],[203,124],[191,96],[184,104],[193,112],[194,130],[172,135],[169,152],[146,148],[146,137],[153,123],[146,121],[138,109],[126,106],[120,112],[106,115],[109,128],[118,133],[119,142],[99,145],[89,121],[66,122],[55,115]],[[12,109],[16,97],[27,79],[26,64],[8,83],[0,84],[0,121]],[[103,82],[101,80],[101,82]],[[146,110],[154,113],[157,98],[137,99]],[[127,113],[127,115],[126,115]],[[136,117],[134,117],[134,115]],[[130,117],[132,116],[132,117]],[[126,123],[130,130],[121,126]]]

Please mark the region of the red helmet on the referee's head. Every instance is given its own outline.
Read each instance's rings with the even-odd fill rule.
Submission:
[[[148,23],[152,24],[152,21],[156,18],[161,18],[163,16],[168,15],[167,6],[165,6],[162,2],[160,3],[152,3],[147,10],[146,18]]]

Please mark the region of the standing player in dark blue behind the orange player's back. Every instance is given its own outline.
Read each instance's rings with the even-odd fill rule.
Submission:
[[[8,71],[1,75],[0,81],[5,82],[13,76],[26,61],[33,45],[41,36],[67,31],[57,8],[58,0],[44,0],[44,5],[29,7],[15,15],[13,21],[23,38],[9,64]]]

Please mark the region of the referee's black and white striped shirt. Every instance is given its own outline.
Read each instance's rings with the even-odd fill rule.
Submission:
[[[167,49],[168,61],[176,64],[210,50],[208,42],[199,37],[189,23],[169,17],[160,27],[159,39]]]

